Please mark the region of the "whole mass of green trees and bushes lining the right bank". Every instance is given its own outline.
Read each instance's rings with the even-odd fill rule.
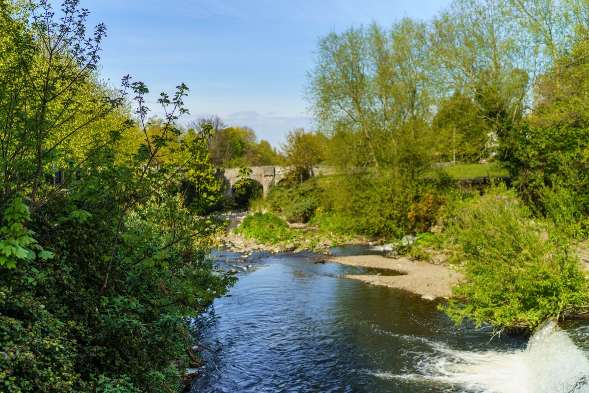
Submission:
[[[583,1],[455,0],[429,22],[320,38],[306,86],[317,132],[289,134],[296,175],[266,209],[330,235],[418,235],[399,252],[435,247],[465,275],[441,306],[456,323],[532,333],[585,315],[587,15]],[[479,160],[511,188],[457,187],[458,171],[431,169]],[[308,179],[319,162],[341,174]],[[243,233],[270,236],[269,222],[257,214]]]

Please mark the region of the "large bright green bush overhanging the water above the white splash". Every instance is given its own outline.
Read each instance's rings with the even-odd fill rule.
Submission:
[[[449,223],[465,278],[444,310],[456,323],[472,319],[531,332],[544,319],[587,302],[587,281],[571,256],[567,232],[542,220],[513,191],[499,186],[466,204]],[[570,231],[568,231],[570,233]]]

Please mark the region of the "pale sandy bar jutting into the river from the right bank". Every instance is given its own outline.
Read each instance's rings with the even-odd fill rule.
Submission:
[[[390,269],[404,273],[402,276],[345,275],[345,278],[361,280],[373,285],[408,290],[423,299],[448,298],[451,286],[462,278],[451,267],[433,265],[422,260],[405,257],[389,258],[380,255],[338,256],[329,260],[342,265]]]

